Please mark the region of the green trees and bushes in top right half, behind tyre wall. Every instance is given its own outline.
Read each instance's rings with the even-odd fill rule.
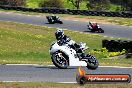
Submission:
[[[85,1],[87,8],[91,10],[107,10],[110,4],[121,6],[122,11],[132,11],[132,0],[68,0],[72,2],[76,9],[80,9],[80,4]]]

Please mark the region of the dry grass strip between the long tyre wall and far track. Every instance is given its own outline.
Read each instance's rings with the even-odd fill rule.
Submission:
[[[25,14],[25,15],[40,15],[40,16],[46,16],[51,15],[49,13],[36,13],[36,12],[23,12],[23,11],[15,11],[15,10],[0,10],[0,12],[13,12],[13,13],[19,13],[19,14]],[[126,25],[126,26],[132,26],[132,18],[123,18],[123,17],[104,17],[104,16],[82,16],[82,15],[68,15],[68,14],[55,14],[62,18],[75,18],[75,19],[83,19],[87,21],[97,21],[100,23],[112,23],[112,24],[118,24],[118,25]]]

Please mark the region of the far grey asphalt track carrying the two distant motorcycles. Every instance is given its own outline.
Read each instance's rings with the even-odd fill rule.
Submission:
[[[21,15],[21,14],[5,13],[5,12],[4,13],[0,12],[0,20],[88,32],[87,29],[88,22],[63,20],[64,24],[48,24],[44,16],[43,17],[30,16],[30,15]],[[103,35],[105,36],[132,39],[132,27],[112,25],[112,24],[99,24],[99,25],[101,28],[104,29],[105,33]]]

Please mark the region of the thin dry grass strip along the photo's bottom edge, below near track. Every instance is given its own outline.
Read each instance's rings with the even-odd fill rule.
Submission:
[[[0,88],[132,88],[132,84],[0,83]]]

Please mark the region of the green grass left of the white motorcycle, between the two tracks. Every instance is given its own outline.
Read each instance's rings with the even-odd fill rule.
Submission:
[[[0,22],[0,59],[49,61],[48,49],[54,30],[32,25]]]

